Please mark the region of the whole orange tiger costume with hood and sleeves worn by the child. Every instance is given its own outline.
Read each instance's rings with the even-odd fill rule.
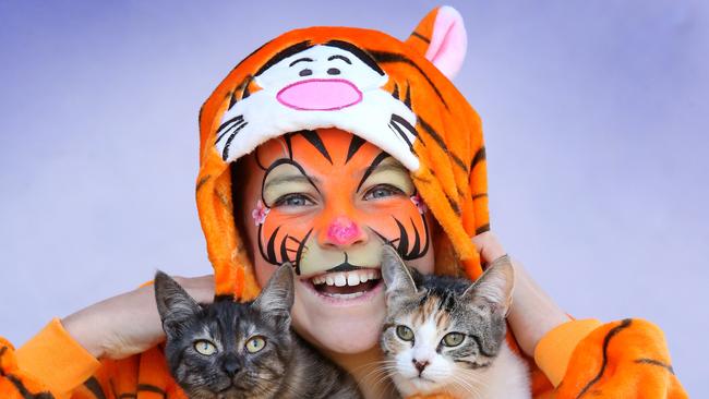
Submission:
[[[489,230],[485,149],[478,114],[449,81],[465,47],[460,15],[443,7],[406,41],[374,31],[311,27],[284,34],[239,63],[200,112],[196,198],[216,294],[251,299],[259,292],[233,221],[229,164],[271,137],[323,128],[351,132],[409,169],[442,228],[433,238],[436,273],[480,276],[470,238]],[[686,397],[662,331],[640,319],[569,322],[550,331],[529,362],[534,398]],[[99,362],[55,319],[16,351],[0,338],[0,397],[184,395],[159,347]]]

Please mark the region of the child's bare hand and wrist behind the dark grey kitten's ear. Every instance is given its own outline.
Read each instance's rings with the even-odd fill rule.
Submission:
[[[197,302],[214,298],[214,277],[177,277]],[[61,321],[64,329],[95,358],[123,359],[165,339],[153,286],[107,299]]]

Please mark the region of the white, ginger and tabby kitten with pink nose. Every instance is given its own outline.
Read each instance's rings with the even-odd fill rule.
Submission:
[[[476,281],[423,276],[383,251],[387,315],[381,346],[402,396],[530,398],[526,364],[505,342],[514,269],[507,256]]]

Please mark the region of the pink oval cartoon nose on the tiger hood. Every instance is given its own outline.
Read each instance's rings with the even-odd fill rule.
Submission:
[[[333,111],[358,104],[362,92],[343,78],[310,78],[281,88],[276,98],[298,110]]]

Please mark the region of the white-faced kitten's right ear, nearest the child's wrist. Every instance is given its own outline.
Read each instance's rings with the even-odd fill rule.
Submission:
[[[471,301],[482,301],[492,305],[495,312],[507,314],[512,305],[515,286],[515,269],[509,256],[505,255],[493,262],[485,273],[464,292]]]

